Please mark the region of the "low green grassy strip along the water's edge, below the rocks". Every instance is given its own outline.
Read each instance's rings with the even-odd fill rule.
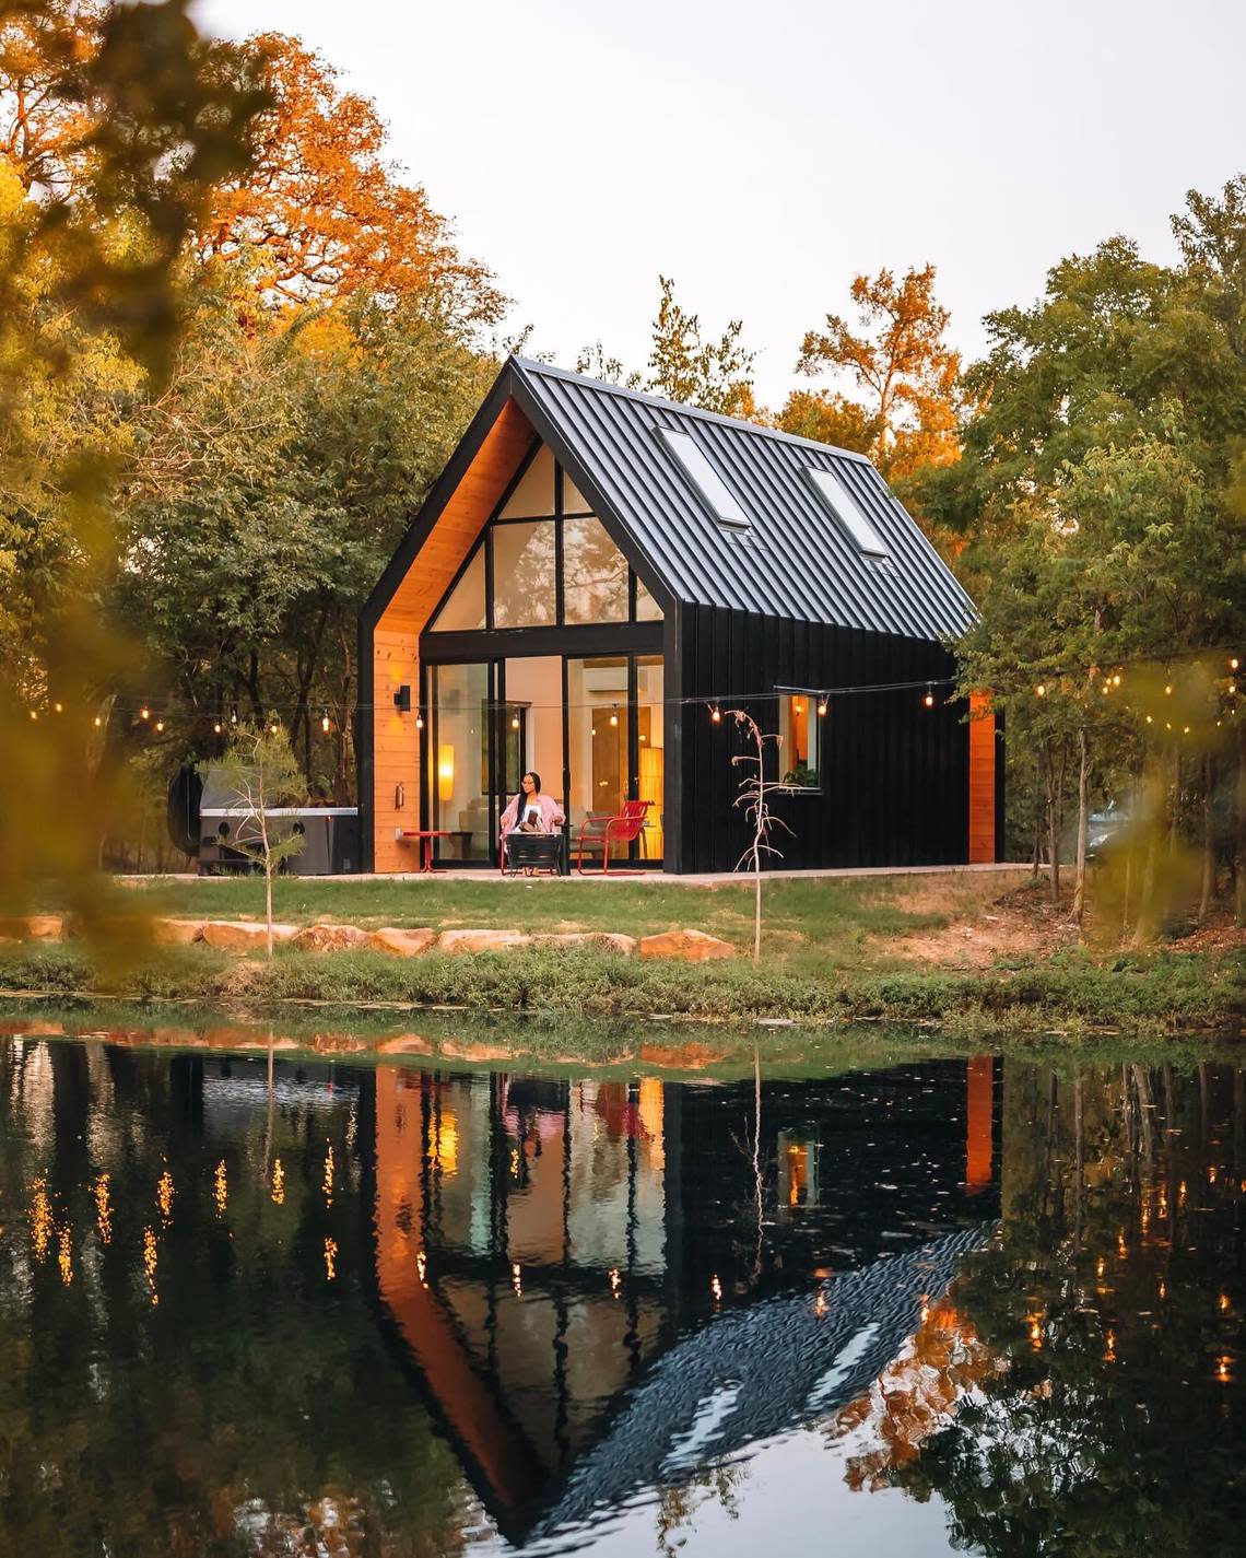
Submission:
[[[467,1011],[558,1013],[586,1019],[682,1019],[746,1024],[925,1022],[958,1031],[1240,1031],[1246,968],[1235,953],[1149,953],[1095,960],[1082,950],[1012,960],[980,971],[847,971],[801,960],[754,969],[746,961],[639,961],[592,949],[531,949],[402,960],[374,952],[271,963],[195,946],[123,971],[97,966],[73,946],[9,947],[0,989],[136,1000],[226,1002],[248,1011],[288,1002],[368,1003]]]

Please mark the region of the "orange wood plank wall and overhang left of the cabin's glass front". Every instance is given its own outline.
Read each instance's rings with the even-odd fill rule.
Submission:
[[[419,827],[419,636],[450,586],[472,542],[533,446],[536,433],[508,400],[484,435],[402,584],[372,634],[372,826],[377,871],[414,871],[419,851],[394,838]],[[394,709],[394,692],[411,689],[411,712]],[[402,801],[402,805],[399,805]]]

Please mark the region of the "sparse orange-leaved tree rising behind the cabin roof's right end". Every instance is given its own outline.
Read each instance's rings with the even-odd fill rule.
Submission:
[[[855,276],[852,301],[857,329],[829,313],[822,330],[805,335],[797,371],[847,374],[863,400],[844,402],[844,411],[871,428],[869,453],[888,477],[955,461],[961,358],[944,341],[952,316],[935,301],[935,266],[910,270],[899,282],[889,270]],[[799,416],[793,402],[780,427]]]

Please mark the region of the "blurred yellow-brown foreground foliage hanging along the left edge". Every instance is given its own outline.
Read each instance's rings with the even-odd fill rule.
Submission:
[[[245,70],[207,70],[184,0],[109,8],[81,58],[64,47],[72,11],[56,0],[25,11],[31,47],[47,48],[48,90],[86,126],[73,132],[86,182],[36,201],[6,160],[0,192],[0,570],[9,619],[42,626],[37,653],[0,647],[0,890],[20,897],[59,879],[87,908],[115,793],[107,770],[92,777],[83,700],[132,664],[98,609],[117,569],[117,461],[100,458],[90,427],[42,436],[36,407],[67,405],[64,435],[76,411],[65,386],[75,374],[93,382],[98,355],[159,382],[181,327],[185,235],[207,187],[245,164],[259,97]],[[69,689],[73,718],[58,712]]]

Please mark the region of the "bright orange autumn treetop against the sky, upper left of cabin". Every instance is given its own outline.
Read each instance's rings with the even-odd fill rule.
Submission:
[[[254,160],[213,190],[196,234],[201,260],[251,251],[271,302],[368,291],[421,298],[466,326],[495,324],[505,299],[416,184],[385,162],[386,129],[371,98],[341,92],[336,70],[297,39],[260,33],[245,45],[271,106]]]

